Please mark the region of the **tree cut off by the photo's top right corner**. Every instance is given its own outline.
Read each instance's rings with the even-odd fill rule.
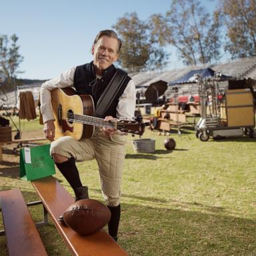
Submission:
[[[256,55],[256,1],[219,0],[219,13],[227,28],[225,50],[233,59]]]

